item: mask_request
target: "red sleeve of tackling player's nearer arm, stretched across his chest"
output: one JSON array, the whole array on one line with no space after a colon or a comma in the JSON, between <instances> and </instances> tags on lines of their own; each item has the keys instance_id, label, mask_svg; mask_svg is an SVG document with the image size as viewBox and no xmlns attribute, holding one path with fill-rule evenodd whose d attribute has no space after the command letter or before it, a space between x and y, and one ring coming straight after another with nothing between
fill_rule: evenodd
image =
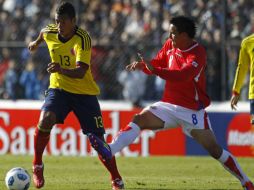
<instances>
[{"instance_id":1,"label":"red sleeve of tackling player's nearer arm, stretched across his chest","mask_svg":"<svg viewBox=\"0 0 254 190\"><path fill-rule=\"evenodd\" d=\"M205 52L203 55L205 55ZM204 69L206 57L200 53L200 56L191 55L186 60L186 65L181 69L168 69L162 67L154 67L153 73L165 80L174 82L183 82L193 80Z\"/></svg>"}]
</instances>

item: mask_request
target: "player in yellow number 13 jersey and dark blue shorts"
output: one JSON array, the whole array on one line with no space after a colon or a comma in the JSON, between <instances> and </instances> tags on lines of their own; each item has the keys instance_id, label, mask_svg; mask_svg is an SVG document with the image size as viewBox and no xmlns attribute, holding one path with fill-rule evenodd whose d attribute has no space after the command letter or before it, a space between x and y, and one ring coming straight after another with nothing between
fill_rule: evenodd
<instances>
[{"instance_id":1,"label":"player in yellow number 13 jersey and dark blue shorts","mask_svg":"<svg viewBox=\"0 0 254 190\"><path fill-rule=\"evenodd\" d=\"M71 111L78 118L84 134L93 134L105 142L105 130L97 100L100 91L90 65L91 38L87 31L76 26L75 9L71 3L63 2L59 5L55 24L44 28L38 38L29 43L29 50L36 50L43 41L46 42L51 57L47 67L50 86L34 134L33 182L36 188L44 186L42 155L49 142L50 132L55 124L63 123ZM115 159L99 158L111 174L112 188L123 189L124 184Z\"/></svg>"}]
</instances>

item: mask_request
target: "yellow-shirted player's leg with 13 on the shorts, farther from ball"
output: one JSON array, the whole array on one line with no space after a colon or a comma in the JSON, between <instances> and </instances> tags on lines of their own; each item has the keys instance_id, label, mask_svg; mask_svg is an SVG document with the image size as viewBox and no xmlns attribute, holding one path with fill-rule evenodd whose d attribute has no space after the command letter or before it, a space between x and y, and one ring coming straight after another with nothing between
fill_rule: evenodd
<instances>
[{"instance_id":1,"label":"yellow-shirted player's leg with 13 on the shorts, farther from ball","mask_svg":"<svg viewBox=\"0 0 254 190\"><path fill-rule=\"evenodd\" d=\"M91 145L96 151L98 151L99 147L96 146L96 142L94 141L102 143L102 146L106 147L107 156L102 157L100 154L98 154L98 156L111 175L112 188L116 190L123 189L124 183L117 169L115 157L112 157L110 148L103 136L105 130L99 102L96 96L77 95L74 97L72 103L74 105L73 111L81 124L82 131L84 134L88 135Z\"/></svg>"}]
</instances>

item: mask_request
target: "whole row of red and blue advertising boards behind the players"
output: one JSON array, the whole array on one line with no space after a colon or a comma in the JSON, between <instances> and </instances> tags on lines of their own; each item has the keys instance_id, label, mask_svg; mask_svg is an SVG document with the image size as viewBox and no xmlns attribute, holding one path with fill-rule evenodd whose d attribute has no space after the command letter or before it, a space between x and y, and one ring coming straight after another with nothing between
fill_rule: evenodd
<instances>
[{"instance_id":1,"label":"whole row of red and blue advertising boards behind the players","mask_svg":"<svg viewBox=\"0 0 254 190\"><path fill-rule=\"evenodd\" d=\"M105 138L111 142L139 110L103 110ZM40 115L39 109L0 109L0 155L33 154L33 135ZM219 144L236 156L254 157L254 129L247 112L208 112ZM82 134L73 113L64 124L55 125L45 154L64 156L95 156L86 136ZM142 131L122 156L207 155L180 127L153 132Z\"/></svg>"}]
</instances>

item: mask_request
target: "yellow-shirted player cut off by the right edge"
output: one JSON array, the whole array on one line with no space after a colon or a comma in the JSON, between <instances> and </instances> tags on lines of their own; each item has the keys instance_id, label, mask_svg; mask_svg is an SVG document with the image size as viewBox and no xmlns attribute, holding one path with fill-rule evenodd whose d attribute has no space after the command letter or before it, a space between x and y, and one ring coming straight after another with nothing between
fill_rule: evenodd
<instances>
[{"instance_id":1,"label":"yellow-shirted player cut off by the right edge","mask_svg":"<svg viewBox=\"0 0 254 190\"><path fill-rule=\"evenodd\" d=\"M254 127L254 34L245 37L241 43L239 60L231 96L231 108L236 109L247 72L250 72L249 100L251 125Z\"/></svg>"}]
</instances>

